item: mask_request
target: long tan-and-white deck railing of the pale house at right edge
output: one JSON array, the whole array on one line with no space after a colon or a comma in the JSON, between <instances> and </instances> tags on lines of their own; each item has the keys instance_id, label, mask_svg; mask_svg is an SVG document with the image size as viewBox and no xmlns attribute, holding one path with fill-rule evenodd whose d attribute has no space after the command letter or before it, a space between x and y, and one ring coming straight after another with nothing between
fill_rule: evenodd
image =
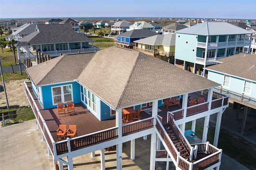
<instances>
[{"instance_id":1,"label":"long tan-and-white deck railing of the pale house at right edge","mask_svg":"<svg viewBox=\"0 0 256 170\"><path fill-rule=\"evenodd\" d=\"M240 94L237 92L233 92L231 90L226 90L222 87L214 87L216 92L220 92L222 94L227 94L230 96L230 100L243 104L244 106L252 107L256 109L256 98L252 98L250 96L246 96L244 94Z\"/></svg>"}]
</instances>

